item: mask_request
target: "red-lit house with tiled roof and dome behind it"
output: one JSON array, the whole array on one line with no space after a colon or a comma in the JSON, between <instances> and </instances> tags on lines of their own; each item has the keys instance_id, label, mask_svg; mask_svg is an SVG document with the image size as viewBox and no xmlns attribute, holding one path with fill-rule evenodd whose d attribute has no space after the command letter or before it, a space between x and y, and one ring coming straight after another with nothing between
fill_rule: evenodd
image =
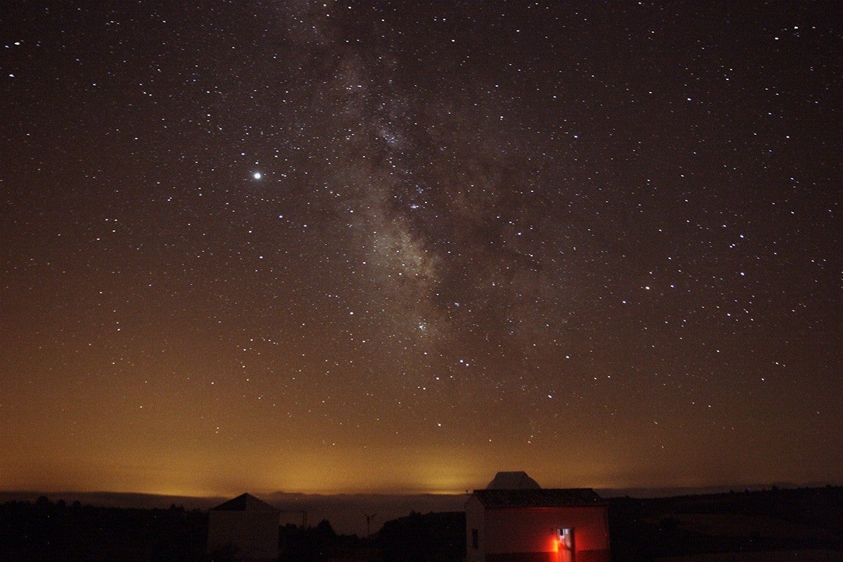
<instances>
[{"instance_id":1,"label":"red-lit house with tiled roof and dome behind it","mask_svg":"<svg viewBox=\"0 0 843 562\"><path fill-rule=\"evenodd\" d=\"M543 490L498 473L465 504L466 562L609 562L609 504L590 488Z\"/></svg>"}]
</instances>

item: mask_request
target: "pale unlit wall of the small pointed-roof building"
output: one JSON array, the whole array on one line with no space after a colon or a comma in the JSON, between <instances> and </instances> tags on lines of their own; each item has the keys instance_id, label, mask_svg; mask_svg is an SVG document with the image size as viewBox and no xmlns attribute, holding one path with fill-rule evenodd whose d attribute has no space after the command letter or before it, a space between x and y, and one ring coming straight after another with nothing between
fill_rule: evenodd
<instances>
[{"instance_id":1,"label":"pale unlit wall of the small pointed-roof building","mask_svg":"<svg viewBox=\"0 0 843 562\"><path fill-rule=\"evenodd\" d=\"M266 511L210 511L207 552L234 545L237 559L278 558L278 514Z\"/></svg>"}]
</instances>

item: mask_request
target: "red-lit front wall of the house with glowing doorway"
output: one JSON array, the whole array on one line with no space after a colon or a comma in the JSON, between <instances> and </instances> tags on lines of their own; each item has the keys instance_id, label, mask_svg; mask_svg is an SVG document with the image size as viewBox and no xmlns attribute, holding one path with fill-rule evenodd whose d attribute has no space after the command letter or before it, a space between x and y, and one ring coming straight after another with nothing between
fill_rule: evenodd
<instances>
[{"instance_id":1,"label":"red-lit front wall of the house with glowing doorway","mask_svg":"<svg viewBox=\"0 0 843 562\"><path fill-rule=\"evenodd\" d=\"M609 528L605 506L488 509L485 512L480 549L486 556L478 560L561 562L564 556L558 553L555 532L562 527L574 528L575 562L609 560ZM470 540L470 536L468 538ZM471 562L474 559L468 560Z\"/></svg>"}]
</instances>

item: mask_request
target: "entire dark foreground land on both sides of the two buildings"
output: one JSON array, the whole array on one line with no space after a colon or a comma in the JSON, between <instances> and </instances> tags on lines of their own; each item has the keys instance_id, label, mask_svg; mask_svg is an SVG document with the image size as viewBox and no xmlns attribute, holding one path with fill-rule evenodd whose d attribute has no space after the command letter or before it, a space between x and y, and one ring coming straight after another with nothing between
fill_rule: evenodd
<instances>
[{"instance_id":1,"label":"entire dark foreground land on both sides of the two buildings","mask_svg":"<svg viewBox=\"0 0 843 562\"><path fill-rule=\"evenodd\" d=\"M843 560L843 488L609 500L612 559L684 562ZM205 554L207 511L67 505L46 497L0 505L0 560L224 560ZM411 513L371 538L323 521L280 528L282 562L457 561L462 512Z\"/></svg>"}]
</instances>

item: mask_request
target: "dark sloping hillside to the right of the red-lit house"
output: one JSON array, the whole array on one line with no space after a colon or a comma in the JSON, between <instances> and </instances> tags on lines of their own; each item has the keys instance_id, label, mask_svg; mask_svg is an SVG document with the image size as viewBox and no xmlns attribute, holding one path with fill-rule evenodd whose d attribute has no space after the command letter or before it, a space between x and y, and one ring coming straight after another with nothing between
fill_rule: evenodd
<instances>
[{"instance_id":1,"label":"dark sloping hillside to the right of the red-lit house","mask_svg":"<svg viewBox=\"0 0 843 562\"><path fill-rule=\"evenodd\" d=\"M841 559L843 488L612 498L609 534L616 562L788 551Z\"/></svg>"}]
</instances>

